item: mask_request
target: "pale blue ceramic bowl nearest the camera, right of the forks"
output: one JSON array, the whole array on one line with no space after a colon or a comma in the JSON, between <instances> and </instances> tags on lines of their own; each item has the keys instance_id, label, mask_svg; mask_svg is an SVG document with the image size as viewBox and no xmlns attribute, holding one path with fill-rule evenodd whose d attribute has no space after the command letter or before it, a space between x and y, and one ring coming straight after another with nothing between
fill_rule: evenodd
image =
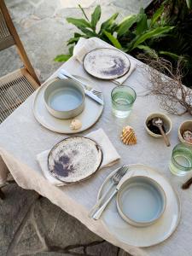
<instances>
[{"instance_id":1,"label":"pale blue ceramic bowl nearest the camera, right of the forks","mask_svg":"<svg viewBox=\"0 0 192 256\"><path fill-rule=\"evenodd\" d=\"M117 208L127 223L137 227L148 226L165 212L166 193L150 177L130 177L119 188Z\"/></svg>"}]
</instances>

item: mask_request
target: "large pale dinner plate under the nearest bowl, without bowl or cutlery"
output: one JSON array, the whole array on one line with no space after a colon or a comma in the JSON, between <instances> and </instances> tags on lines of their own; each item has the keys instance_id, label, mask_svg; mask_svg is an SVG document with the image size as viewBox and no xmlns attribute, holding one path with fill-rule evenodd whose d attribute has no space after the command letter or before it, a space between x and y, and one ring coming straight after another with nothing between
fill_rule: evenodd
<instances>
[{"instance_id":1,"label":"large pale dinner plate under the nearest bowl, without bowl or cutlery","mask_svg":"<svg viewBox=\"0 0 192 256\"><path fill-rule=\"evenodd\" d=\"M102 184L98 199L108 189L108 185L111 183L110 177L113 176L114 172L110 173ZM166 210L161 218L147 227L132 226L119 216L116 199L113 198L102 213L101 219L106 229L119 241L135 247L149 247L165 241L176 230L181 215L181 206L177 193L166 177L163 177L149 166L129 165L124 179L139 175L153 178L164 189L166 193Z\"/></svg>"}]
</instances>

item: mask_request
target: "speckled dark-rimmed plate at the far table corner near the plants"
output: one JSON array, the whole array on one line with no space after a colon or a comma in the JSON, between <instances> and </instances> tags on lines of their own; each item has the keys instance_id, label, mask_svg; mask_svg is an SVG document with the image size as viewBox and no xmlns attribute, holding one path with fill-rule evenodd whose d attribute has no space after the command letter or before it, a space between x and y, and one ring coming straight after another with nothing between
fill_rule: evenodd
<instances>
[{"instance_id":1,"label":"speckled dark-rimmed plate at the far table corner near the plants","mask_svg":"<svg viewBox=\"0 0 192 256\"><path fill-rule=\"evenodd\" d=\"M119 79L130 66L129 58L118 49L94 49L84 57L84 69L97 79Z\"/></svg>"}]
</instances>

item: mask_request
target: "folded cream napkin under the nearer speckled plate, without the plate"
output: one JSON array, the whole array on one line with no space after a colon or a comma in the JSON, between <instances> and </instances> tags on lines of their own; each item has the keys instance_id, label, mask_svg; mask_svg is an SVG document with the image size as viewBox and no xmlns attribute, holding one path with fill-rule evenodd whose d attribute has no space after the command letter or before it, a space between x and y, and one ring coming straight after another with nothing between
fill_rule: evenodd
<instances>
[{"instance_id":1,"label":"folded cream napkin under the nearer speckled plate, without the plate","mask_svg":"<svg viewBox=\"0 0 192 256\"><path fill-rule=\"evenodd\" d=\"M117 160L119 160L119 154L117 153L108 136L102 129L92 131L87 134L86 137L93 139L102 148L103 159L100 169L103 167L112 166ZM46 177L50 183L54 184L55 186L62 186L64 184L55 177L53 177L49 172L47 165L49 151L50 149L37 155L38 163L42 171L44 172L44 177Z\"/></svg>"}]
</instances>

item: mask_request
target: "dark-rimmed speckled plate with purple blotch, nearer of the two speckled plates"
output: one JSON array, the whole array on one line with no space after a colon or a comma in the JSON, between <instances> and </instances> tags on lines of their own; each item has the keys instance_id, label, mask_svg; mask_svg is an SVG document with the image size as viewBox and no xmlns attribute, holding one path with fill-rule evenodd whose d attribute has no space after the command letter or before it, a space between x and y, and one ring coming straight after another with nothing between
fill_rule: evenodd
<instances>
[{"instance_id":1,"label":"dark-rimmed speckled plate with purple blotch, nearer of the two speckled plates","mask_svg":"<svg viewBox=\"0 0 192 256\"><path fill-rule=\"evenodd\" d=\"M102 149L90 138L68 137L48 156L49 172L63 183L77 183L95 173L102 164Z\"/></svg>"}]
</instances>

